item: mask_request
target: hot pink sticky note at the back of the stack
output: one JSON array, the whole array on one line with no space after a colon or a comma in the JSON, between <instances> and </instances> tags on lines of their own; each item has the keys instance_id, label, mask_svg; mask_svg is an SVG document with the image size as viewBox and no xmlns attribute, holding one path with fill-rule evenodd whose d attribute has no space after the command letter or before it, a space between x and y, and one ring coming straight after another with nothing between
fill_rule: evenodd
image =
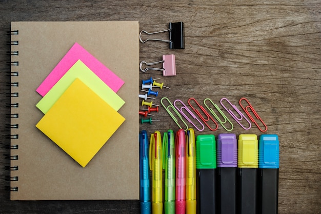
<instances>
[{"instance_id":1,"label":"hot pink sticky note at the back of the stack","mask_svg":"<svg viewBox=\"0 0 321 214\"><path fill-rule=\"evenodd\" d=\"M61 77L77 62L81 60L90 70L92 70L104 83L106 83L114 92L122 87L124 81L113 73L104 64L99 62L85 48L75 43L66 53L63 59L49 73L44 82L36 91L45 96L47 92L61 79Z\"/></svg>"}]
</instances>

